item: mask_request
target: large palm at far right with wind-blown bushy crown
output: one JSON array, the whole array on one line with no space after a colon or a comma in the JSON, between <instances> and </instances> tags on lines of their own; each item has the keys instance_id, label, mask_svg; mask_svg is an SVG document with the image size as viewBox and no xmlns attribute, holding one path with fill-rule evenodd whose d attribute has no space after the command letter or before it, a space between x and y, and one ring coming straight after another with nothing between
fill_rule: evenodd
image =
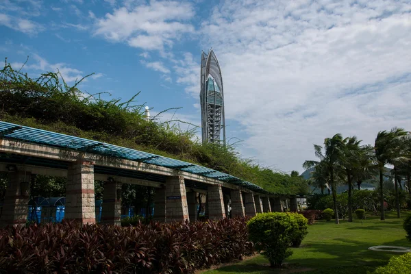
<instances>
[{"instance_id":1,"label":"large palm at far right with wind-blown bushy crown","mask_svg":"<svg viewBox=\"0 0 411 274\"><path fill-rule=\"evenodd\" d=\"M377 160L377 166L379 169L379 206L381 207L381 220L385 220L384 216L384 191L383 191L383 176L384 166L386 164L399 164L405 162L407 158L404 158L401 154L401 142L399 140L408 136L408 132L401 128L393 128L390 132L386 130L378 132L377 138L375 138L375 159ZM397 180L395 180L395 186L397 186ZM398 199L397 199L398 201ZM398 206L397 206L398 210ZM399 212L397 213L397 215Z\"/></svg>"}]
</instances>

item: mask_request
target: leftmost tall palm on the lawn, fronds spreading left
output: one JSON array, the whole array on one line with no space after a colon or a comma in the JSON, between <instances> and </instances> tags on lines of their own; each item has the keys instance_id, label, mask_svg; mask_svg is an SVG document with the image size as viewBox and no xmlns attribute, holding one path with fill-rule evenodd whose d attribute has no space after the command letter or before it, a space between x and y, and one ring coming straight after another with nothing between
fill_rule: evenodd
<instances>
[{"instance_id":1,"label":"leftmost tall palm on the lawn, fronds spreading left","mask_svg":"<svg viewBox=\"0 0 411 274\"><path fill-rule=\"evenodd\" d=\"M323 147L320 145L314 145L314 153L316 157L319 158L320 162L323 162L325 169L329 173L329 184L331 184L332 188L332 201L334 203L334 213L336 214L336 224L339 224L336 177L339 173L340 160L343 158L343 136L338 133L332 138L325 138L324 153ZM320 162L307 160L303 163L303 168L310 169L313 166L320 164Z\"/></svg>"}]
</instances>

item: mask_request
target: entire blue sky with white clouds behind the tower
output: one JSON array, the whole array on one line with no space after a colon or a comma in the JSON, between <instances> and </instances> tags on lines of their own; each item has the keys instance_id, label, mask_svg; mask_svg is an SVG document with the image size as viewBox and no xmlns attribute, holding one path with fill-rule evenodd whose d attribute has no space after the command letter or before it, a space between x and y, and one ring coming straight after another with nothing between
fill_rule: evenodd
<instances>
[{"instance_id":1,"label":"entire blue sky with white clouds behind the tower","mask_svg":"<svg viewBox=\"0 0 411 274\"><path fill-rule=\"evenodd\" d=\"M372 143L410 129L410 13L388 0L3 0L0 53L70 84L95 73L82 90L141 91L152 113L183 107L175 117L199 125L199 59L213 47L227 136L245 158L302 171L337 132Z\"/></svg>"}]
</instances>

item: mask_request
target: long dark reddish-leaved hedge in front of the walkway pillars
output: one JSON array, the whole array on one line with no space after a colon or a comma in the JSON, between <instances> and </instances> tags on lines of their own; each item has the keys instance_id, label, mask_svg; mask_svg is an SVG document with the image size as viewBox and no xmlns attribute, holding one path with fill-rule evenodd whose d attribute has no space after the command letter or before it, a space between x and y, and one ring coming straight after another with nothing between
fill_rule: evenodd
<instances>
[{"instance_id":1,"label":"long dark reddish-leaved hedge in front of the walkway pillars","mask_svg":"<svg viewBox=\"0 0 411 274\"><path fill-rule=\"evenodd\" d=\"M253 253L247 219L0 229L0 273L194 273Z\"/></svg>"}]
</instances>

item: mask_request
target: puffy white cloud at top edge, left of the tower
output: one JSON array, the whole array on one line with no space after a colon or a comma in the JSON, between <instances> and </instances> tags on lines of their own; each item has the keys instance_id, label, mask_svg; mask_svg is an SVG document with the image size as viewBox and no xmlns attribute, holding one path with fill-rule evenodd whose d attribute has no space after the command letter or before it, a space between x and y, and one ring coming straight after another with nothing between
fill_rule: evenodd
<instances>
[{"instance_id":1,"label":"puffy white cloud at top edge, left of the tower","mask_svg":"<svg viewBox=\"0 0 411 274\"><path fill-rule=\"evenodd\" d=\"M113 42L127 42L131 47L162 50L164 46L171 47L182 34L194 32L192 25L184 23L192 16L192 5L178 1L125 5L96 18L95 35Z\"/></svg>"}]
</instances>

